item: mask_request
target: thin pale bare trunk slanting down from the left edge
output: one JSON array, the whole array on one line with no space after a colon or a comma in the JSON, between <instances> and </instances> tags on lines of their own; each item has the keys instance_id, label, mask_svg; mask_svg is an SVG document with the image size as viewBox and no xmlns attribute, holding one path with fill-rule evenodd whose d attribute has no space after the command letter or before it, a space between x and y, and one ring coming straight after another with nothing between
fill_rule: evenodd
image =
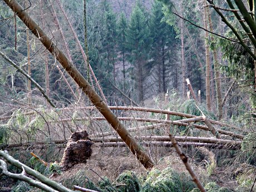
<instances>
[{"instance_id":1,"label":"thin pale bare trunk slanting down from the left edge","mask_svg":"<svg viewBox=\"0 0 256 192\"><path fill-rule=\"evenodd\" d=\"M53 102L50 100L50 98L46 95L45 90L43 90L43 88L31 76L29 76L25 71L23 71L21 67L19 67L16 63L14 63L12 60L10 60L6 55L4 55L3 52L0 51L0 55L6 61L8 61L13 67L15 67L18 70L18 72L20 72L20 73L22 73L22 75L26 76L28 78L28 80L30 80L38 88L38 90L40 90L40 92L43 94L43 97L45 97L45 99L49 102L49 104L52 107L56 108L56 106L53 104Z\"/></svg>"}]
</instances>

